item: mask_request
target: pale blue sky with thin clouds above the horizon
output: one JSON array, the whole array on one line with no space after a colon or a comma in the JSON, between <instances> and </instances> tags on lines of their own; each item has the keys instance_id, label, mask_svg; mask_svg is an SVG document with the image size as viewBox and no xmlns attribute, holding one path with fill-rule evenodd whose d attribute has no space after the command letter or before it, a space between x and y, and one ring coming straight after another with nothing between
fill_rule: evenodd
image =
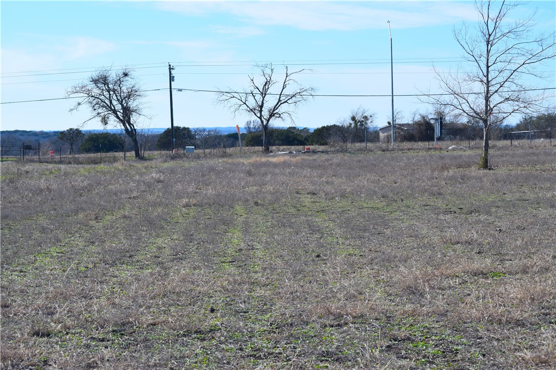
<instances>
[{"instance_id":1,"label":"pale blue sky with thin clouds above the horizon","mask_svg":"<svg viewBox=\"0 0 556 370\"><path fill-rule=\"evenodd\" d=\"M554 1L533 1L515 16L538 9L539 32L556 28ZM304 86L322 95L297 110L293 125L334 124L352 109L374 113L381 126L391 114L390 21L394 93L437 89L432 65L447 70L461 62L452 29L477 19L470 1L274 1L121 2L2 1L2 130L64 130L89 117L69 113L75 100L9 103L65 97L66 89L96 69L127 65L147 92L144 128L170 126L168 63L175 89L243 90L257 63L282 64ZM554 72L554 60L543 67ZM556 85L555 74L539 82ZM282 75L278 75L282 77ZM232 115L207 92L173 92L174 124L189 127L242 126L249 115ZM9 103L9 104L7 104ZM405 120L432 109L415 97L396 97ZM513 123L519 116L513 118ZM277 126L292 123L276 122ZM91 121L84 129L98 129Z\"/></svg>"}]
</instances>

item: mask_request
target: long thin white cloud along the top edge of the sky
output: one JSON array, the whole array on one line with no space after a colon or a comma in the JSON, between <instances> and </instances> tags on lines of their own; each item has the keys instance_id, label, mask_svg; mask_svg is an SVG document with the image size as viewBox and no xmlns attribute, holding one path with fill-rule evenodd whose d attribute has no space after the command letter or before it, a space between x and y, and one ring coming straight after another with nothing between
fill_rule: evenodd
<instances>
[{"instance_id":1,"label":"long thin white cloud along the top edge of the sky","mask_svg":"<svg viewBox=\"0 0 556 370\"><path fill-rule=\"evenodd\" d=\"M259 26L290 26L310 31L353 31L384 28L435 26L473 20L472 3L461 2L163 2L158 7L187 16L233 14Z\"/></svg>"}]
</instances>

